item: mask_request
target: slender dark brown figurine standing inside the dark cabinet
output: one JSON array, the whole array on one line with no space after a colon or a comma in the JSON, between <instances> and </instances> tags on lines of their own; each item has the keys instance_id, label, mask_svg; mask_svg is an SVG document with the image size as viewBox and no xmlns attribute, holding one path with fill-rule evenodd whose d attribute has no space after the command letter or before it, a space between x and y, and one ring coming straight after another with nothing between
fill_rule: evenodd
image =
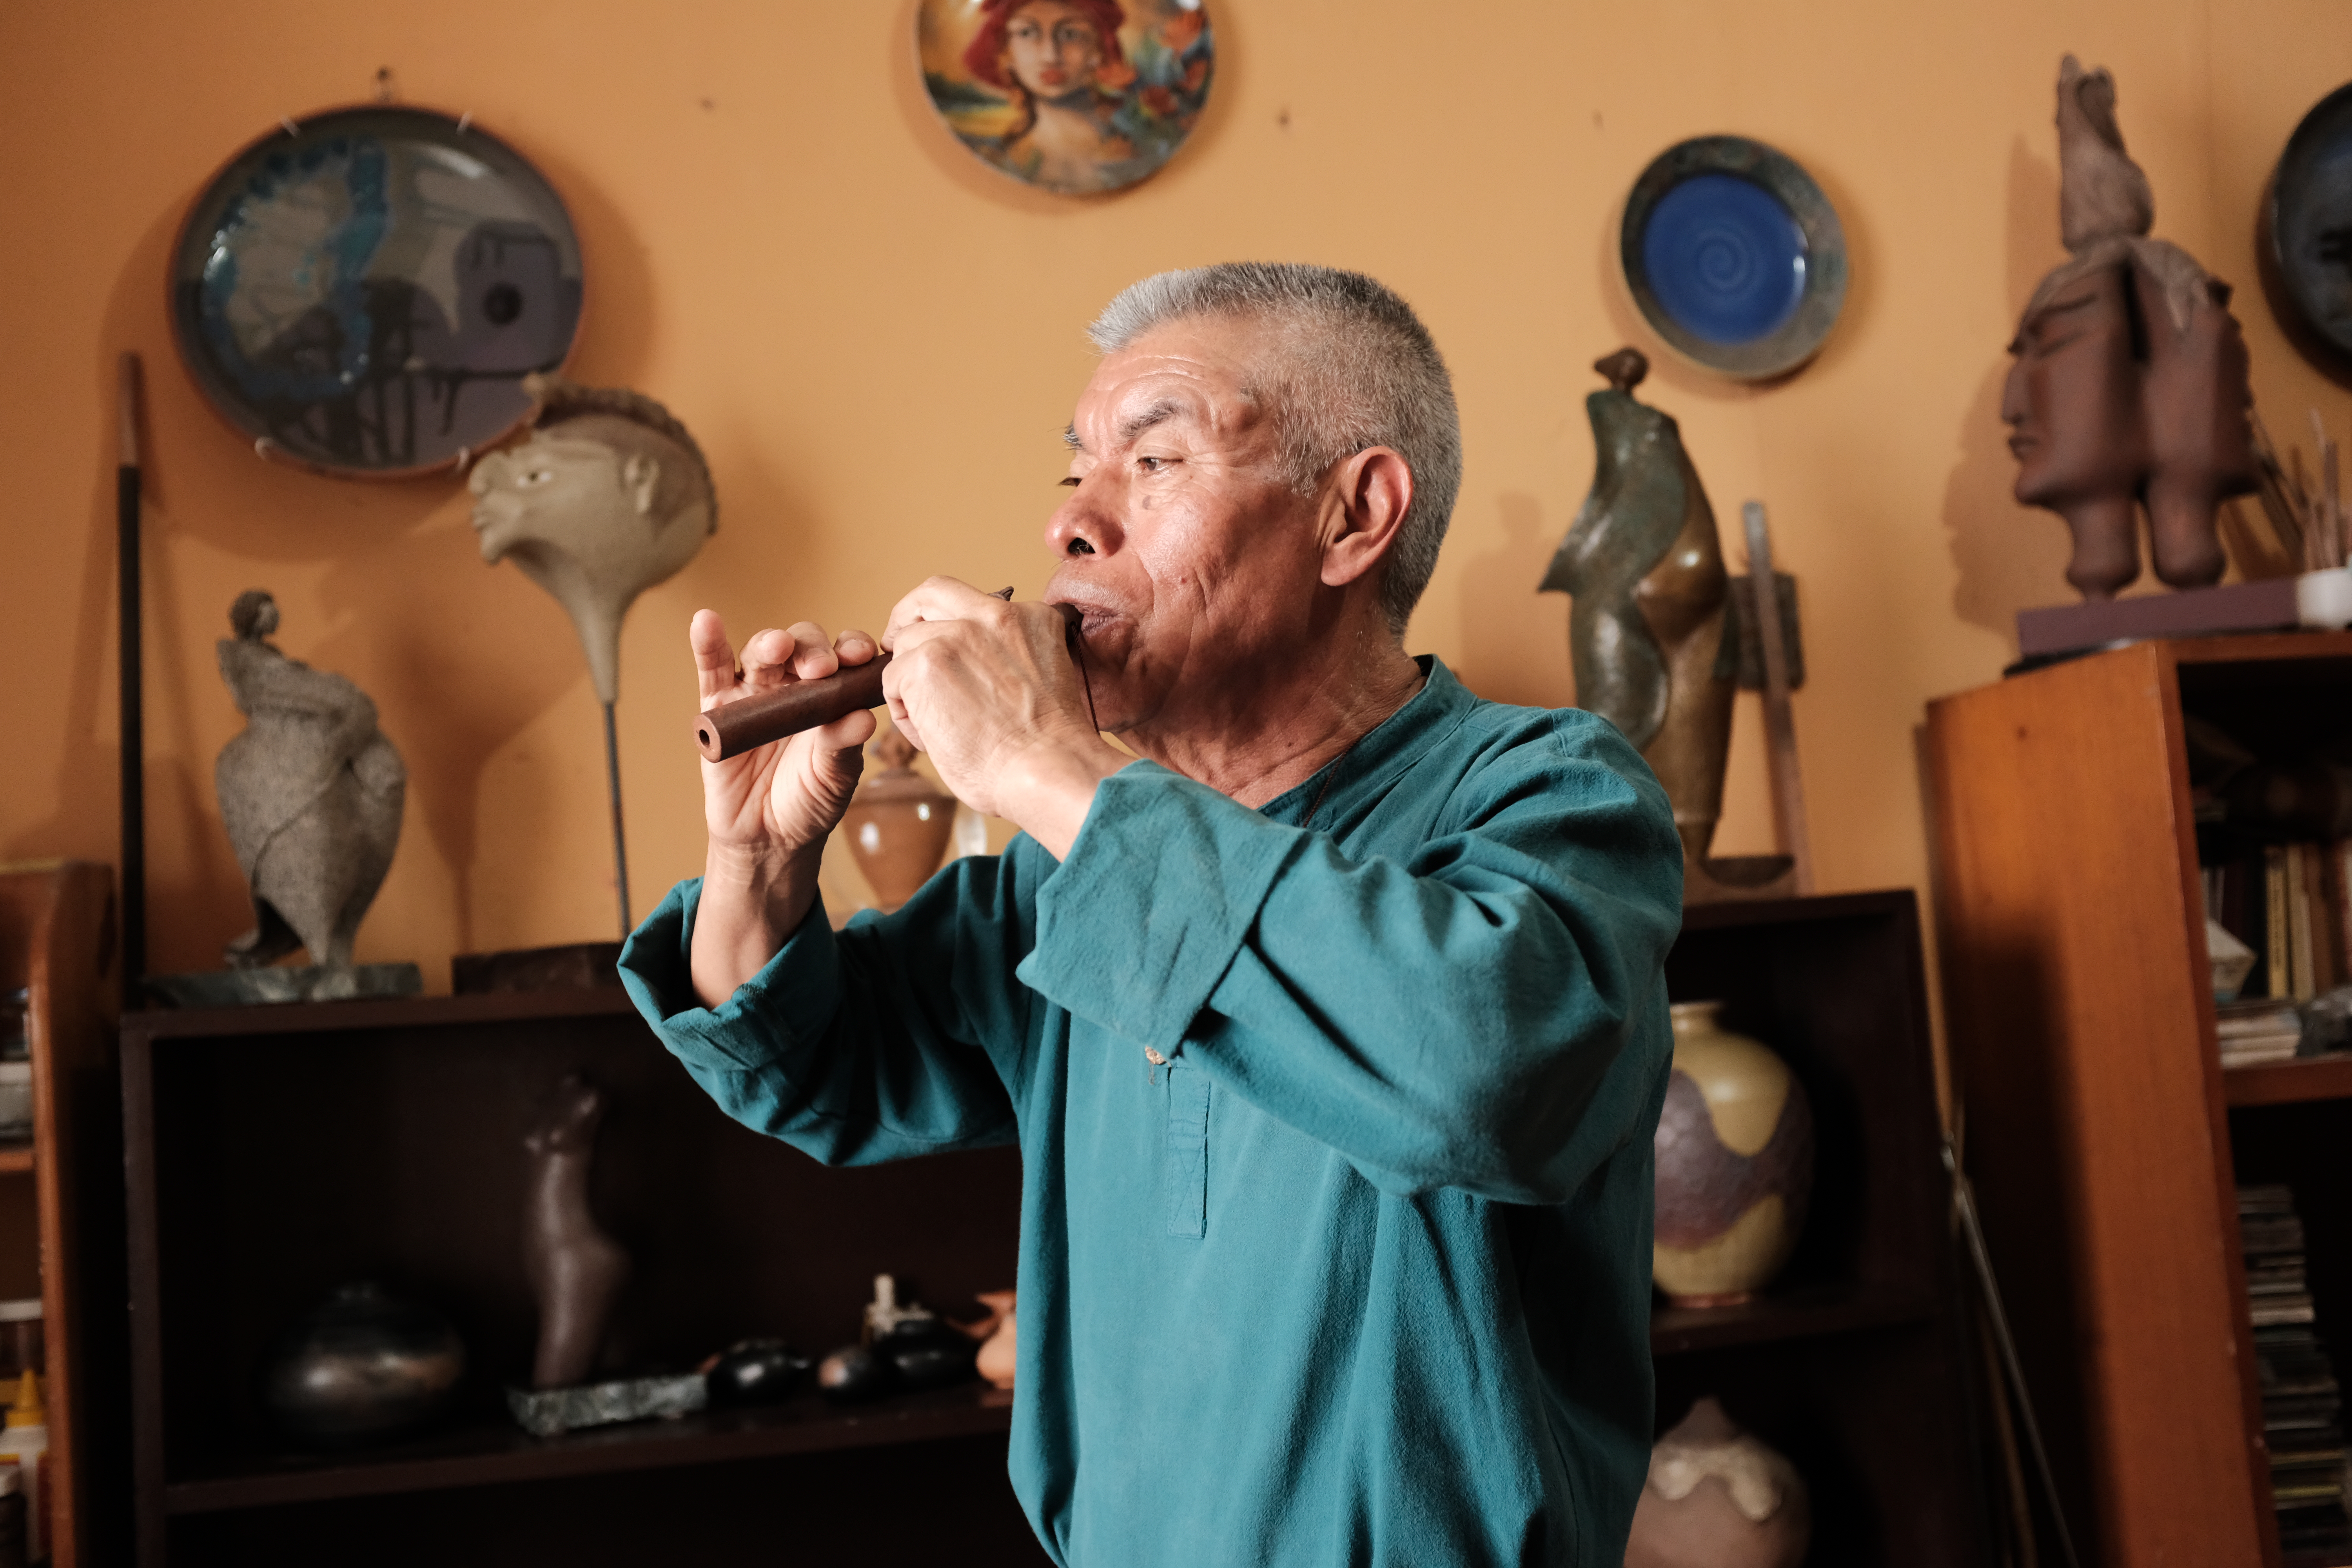
<instances>
[{"instance_id":1,"label":"slender dark brown figurine standing inside the dark cabinet","mask_svg":"<svg viewBox=\"0 0 2352 1568\"><path fill-rule=\"evenodd\" d=\"M597 1229L588 1211L588 1166L595 1157L604 1095L579 1074L555 1086L546 1119L524 1135L532 1152L529 1197L522 1211L522 1269L539 1300L539 1354L532 1387L586 1382L604 1349L612 1309L628 1284L628 1253Z\"/></svg>"}]
</instances>

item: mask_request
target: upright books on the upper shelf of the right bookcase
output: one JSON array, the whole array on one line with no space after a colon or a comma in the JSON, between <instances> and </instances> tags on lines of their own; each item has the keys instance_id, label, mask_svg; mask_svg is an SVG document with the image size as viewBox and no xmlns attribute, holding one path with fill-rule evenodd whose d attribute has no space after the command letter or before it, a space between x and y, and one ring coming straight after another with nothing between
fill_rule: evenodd
<instances>
[{"instance_id":1,"label":"upright books on the upper shelf of the right bookcase","mask_svg":"<svg viewBox=\"0 0 2352 1568\"><path fill-rule=\"evenodd\" d=\"M2310 1001L2352 980L2352 839L2251 846L2201 870L2206 917L2256 952L2244 997Z\"/></svg>"}]
</instances>

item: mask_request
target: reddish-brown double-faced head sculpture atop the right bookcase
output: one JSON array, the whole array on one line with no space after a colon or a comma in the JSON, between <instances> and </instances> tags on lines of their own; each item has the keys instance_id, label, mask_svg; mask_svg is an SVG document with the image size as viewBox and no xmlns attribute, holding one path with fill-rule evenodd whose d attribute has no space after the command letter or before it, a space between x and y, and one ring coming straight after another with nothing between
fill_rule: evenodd
<instances>
[{"instance_id":1,"label":"reddish-brown double-faced head sculpture atop the right bookcase","mask_svg":"<svg viewBox=\"0 0 2352 1568\"><path fill-rule=\"evenodd\" d=\"M2016 496L2065 517L2067 581L2112 599L2140 576L2220 578L2216 510L2256 489L2246 341L2230 284L2150 240L2154 195L2124 153L2114 78L2058 66L2058 219L2072 259L2025 306L2002 390Z\"/></svg>"}]
</instances>

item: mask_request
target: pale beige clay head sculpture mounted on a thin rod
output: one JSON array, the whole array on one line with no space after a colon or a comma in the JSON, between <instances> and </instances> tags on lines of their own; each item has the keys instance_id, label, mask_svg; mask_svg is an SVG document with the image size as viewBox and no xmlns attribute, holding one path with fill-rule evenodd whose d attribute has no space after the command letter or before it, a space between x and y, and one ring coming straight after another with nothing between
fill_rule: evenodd
<instances>
[{"instance_id":1,"label":"pale beige clay head sculpture mounted on a thin rod","mask_svg":"<svg viewBox=\"0 0 2352 1568\"><path fill-rule=\"evenodd\" d=\"M529 440L473 465L482 559L515 557L572 616L600 701L621 689L621 616L717 529L710 465L652 397L527 376Z\"/></svg>"}]
</instances>

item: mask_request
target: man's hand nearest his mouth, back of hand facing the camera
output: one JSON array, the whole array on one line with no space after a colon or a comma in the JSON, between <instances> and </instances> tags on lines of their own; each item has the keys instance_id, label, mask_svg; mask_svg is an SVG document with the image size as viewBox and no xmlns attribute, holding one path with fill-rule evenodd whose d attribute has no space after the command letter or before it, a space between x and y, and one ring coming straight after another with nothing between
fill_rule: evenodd
<instances>
[{"instance_id":1,"label":"man's hand nearest his mouth, back of hand facing the camera","mask_svg":"<svg viewBox=\"0 0 2352 1568\"><path fill-rule=\"evenodd\" d=\"M1087 717L1087 686L1051 604L1007 604L931 578L889 616L891 719L974 811L1070 853L1094 785L1134 762Z\"/></svg>"}]
</instances>

